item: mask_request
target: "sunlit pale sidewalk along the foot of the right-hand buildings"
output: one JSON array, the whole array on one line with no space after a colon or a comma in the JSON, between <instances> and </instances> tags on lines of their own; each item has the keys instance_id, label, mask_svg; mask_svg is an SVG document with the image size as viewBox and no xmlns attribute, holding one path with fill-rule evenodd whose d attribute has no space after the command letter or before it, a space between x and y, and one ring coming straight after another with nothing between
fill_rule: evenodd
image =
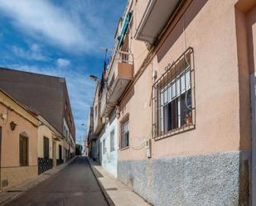
<instances>
[{"instance_id":1,"label":"sunlit pale sidewalk along the foot of the right-hand buildings","mask_svg":"<svg viewBox=\"0 0 256 206\"><path fill-rule=\"evenodd\" d=\"M102 166L95 161L87 158L94 175L96 176L101 189L103 190L106 199L111 206L150 206L138 194L135 194L132 189L118 181L114 176L109 175Z\"/></svg>"}]
</instances>

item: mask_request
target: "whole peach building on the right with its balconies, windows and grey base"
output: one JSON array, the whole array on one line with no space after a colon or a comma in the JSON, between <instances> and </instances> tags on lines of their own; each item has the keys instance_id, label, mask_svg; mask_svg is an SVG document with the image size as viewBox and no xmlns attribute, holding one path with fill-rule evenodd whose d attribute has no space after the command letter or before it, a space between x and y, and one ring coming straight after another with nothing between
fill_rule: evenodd
<instances>
[{"instance_id":1,"label":"whole peach building on the right with its balconies, windows and grey base","mask_svg":"<svg viewBox=\"0 0 256 206\"><path fill-rule=\"evenodd\" d=\"M119 180L156 206L256 205L255 42L254 0L128 1L94 98Z\"/></svg>"}]
</instances>

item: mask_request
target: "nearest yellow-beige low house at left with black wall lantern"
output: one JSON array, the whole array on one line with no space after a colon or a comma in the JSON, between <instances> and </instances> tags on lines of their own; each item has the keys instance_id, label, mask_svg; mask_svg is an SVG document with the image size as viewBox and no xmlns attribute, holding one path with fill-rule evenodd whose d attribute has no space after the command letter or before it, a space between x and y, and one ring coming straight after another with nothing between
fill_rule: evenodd
<instances>
[{"instance_id":1,"label":"nearest yellow-beige low house at left with black wall lantern","mask_svg":"<svg viewBox=\"0 0 256 206\"><path fill-rule=\"evenodd\" d=\"M39 120L0 90L0 189L37 175Z\"/></svg>"}]
</instances>

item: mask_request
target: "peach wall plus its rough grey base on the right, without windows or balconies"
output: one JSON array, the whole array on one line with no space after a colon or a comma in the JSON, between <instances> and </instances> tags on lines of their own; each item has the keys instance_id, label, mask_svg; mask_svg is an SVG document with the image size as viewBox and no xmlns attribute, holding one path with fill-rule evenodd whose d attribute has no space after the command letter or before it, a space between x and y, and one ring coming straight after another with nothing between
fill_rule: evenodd
<instances>
[{"instance_id":1,"label":"peach wall plus its rough grey base on the right, without windows or balconies","mask_svg":"<svg viewBox=\"0 0 256 206\"><path fill-rule=\"evenodd\" d=\"M239 91L249 76L241 79L238 66L236 2L191 1L121 100L118 122L129 116L130 146L118 151L118 178L154 205L248 204L251 137L243 111L249 98L241 103ZM194 50L196 128L152 140L147 160L145 146L134 148L152 137L152 71L158 79L188 46ZM141 53L135 43L131 49ZM134 71L140 66L135 62ZM244 90L249 93L249 84Z\"/></svg>"}]
</instances>

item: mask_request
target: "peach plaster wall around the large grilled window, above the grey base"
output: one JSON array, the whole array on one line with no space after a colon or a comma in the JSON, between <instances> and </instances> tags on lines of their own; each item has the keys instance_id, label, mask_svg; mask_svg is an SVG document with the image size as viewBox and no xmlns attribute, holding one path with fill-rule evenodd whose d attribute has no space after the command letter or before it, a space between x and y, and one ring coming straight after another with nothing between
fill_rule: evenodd
<instances>
[{"instance_id":1,"label":"peach plaster wall around the large grilled window, above the grey base","mask_svg":"<svg viewBox=\"0 0 256 206\"><path fill-rule=\"evenodd\" d=\"M152 133L152 70L157 70L159 78L164 68L188 46L194 49L196 129L153 140L152 158L239 150L239 68L235 23L232 0L191 2L158 48L157 55L120 103L118 121L128 114L131 146L118 151L118 160L146 158L145 147L140 150L133 148L141 146ZM140 52L133 48L134 55Z\"/></svg>"}]
</instances>

